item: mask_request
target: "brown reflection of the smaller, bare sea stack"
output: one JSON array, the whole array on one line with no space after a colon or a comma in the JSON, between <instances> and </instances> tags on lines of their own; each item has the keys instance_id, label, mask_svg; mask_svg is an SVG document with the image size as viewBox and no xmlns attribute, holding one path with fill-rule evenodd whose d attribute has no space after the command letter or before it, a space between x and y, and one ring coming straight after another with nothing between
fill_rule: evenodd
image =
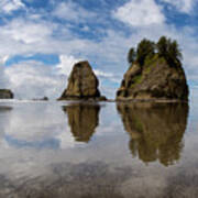
<instances>
[{"instance_id":1,"label":"brown reflection of the smaller, bare sea stack","mask_svg":"<svg viewBox=\"0 0 198 198\"><path fill-rule=\"evenodd\" d=\"M89 142L98 125L100 106L74 103L63 107L76 141Z\"/></svg>"}]
</instances>

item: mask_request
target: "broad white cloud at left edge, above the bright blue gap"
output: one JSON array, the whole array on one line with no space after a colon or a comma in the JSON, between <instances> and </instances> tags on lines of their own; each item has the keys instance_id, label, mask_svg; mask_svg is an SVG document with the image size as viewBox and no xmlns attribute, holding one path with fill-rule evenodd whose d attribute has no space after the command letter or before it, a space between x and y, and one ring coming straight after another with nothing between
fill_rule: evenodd
<instances>
[{"instance_id":1,"label":"broad white cloud at left edge, above the bright blue gap","mask_svg":"<svg viewBox=\"0 0 198 198\"><path fill-rule=\"evenodd\" d=\"M44 21L33 22L18 18L4 25L0 31L1 56L34 54L50 52L54 25ZM47 50L48 48L48 50Z\"/></svg>"}]
</instances>

